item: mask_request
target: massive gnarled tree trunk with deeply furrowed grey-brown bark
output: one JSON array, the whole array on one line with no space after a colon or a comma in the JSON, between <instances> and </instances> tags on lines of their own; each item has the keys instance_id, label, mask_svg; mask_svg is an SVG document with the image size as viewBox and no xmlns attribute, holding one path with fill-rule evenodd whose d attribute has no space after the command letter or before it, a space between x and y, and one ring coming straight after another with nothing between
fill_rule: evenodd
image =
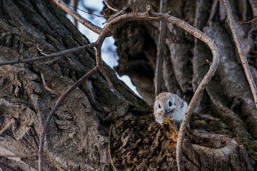
<instances>
[{"instance_id":1,"label":"massive gnarled tree trunk with deeply furrowed grey-brown bark","mask_svg":"<svg viewBox=\"0 0 257 171\"><path fill-rule=\"evenodd\" d=\"M145 11L146 4L141 1L117 2L113 3L120 9L126 6ZM243 18L247 20L254 4L242 2L245 8L239 8L237 3L231 6L238 11L236 14L247 16ZM158 11L158 2L148 4ZM236 57L222 4L177 1L168 10L213 37L222 57L218 72L199 103L202 112L194 113L190 122L192 131L190 128L187 131L188 139L183 146L186 169L256 169L257 143L253 141L257 138L256 109ZM119 74L131 77L150 105L155 99L158 28L157 22L135 21L115 31L120 57L116 69ZM257 72L256 61L250 56L254 55L254 26L238 25L238 29L251 68ZM203 42L194 40L182 29L168 24L167 30L163 91L178 93L189 102L209 67L205 58L211 60L212 56ZM89 43L51 0L0 1L0 40L0 62L39 56L37 44L50 54ZM41 73L50 88L63 93L95 63L94 49L88 49L54 59L0 67L0 153L38 153L43 124L58 99L44 89ZM44 143L44 169L112 170L108 136L113 123L111 156L118 170L177 170L176 147L170 145L154 121L152 108L120 81L109 66L105 64L104 68L113 88L97 73L74 90L55 113ZM206 115L208 112L218 118ZM242 142L246 147L240 145ZM0 161L23 170L38 170L36 158L0 157Z\"/></svg>"}]
</instances>

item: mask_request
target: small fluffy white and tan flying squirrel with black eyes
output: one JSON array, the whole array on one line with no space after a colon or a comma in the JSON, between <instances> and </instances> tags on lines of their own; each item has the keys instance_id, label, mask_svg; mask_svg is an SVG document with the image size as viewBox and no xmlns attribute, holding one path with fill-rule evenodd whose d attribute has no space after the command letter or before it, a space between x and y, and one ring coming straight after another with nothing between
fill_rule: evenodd
<instances>
[{"instance_id":1,"label":"small fluffy white and tan flying squirrel with black eyes","mask_svg":"<svg viewBox=\"0 0 257 171\"><path fill-rule=\"evenodd\" d=\"M187 107L187 102L182 100L176 94L171 94L169 92L160 93L156 96L156 100L154 102L155 120L159 124L162 124L164 115L166 115L169 119L173 118L175 120L179 129Z\"/></svg>"}]
</instances>

